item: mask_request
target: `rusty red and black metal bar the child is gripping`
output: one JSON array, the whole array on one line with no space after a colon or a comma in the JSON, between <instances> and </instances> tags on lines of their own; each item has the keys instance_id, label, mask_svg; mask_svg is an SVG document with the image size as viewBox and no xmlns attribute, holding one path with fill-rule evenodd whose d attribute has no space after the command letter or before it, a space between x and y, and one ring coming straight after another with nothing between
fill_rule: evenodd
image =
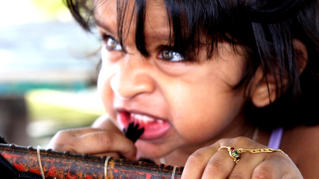
<instances>
[{"instance_id":1,"label":"rusty red and black metal bar the child is gripping","mask_svg":"<svg viewBox=\"0 0 319 179\"><path fill-rule=\"evenodd\" d=\"M0 154L21 172L38 175L40 166L37 150L14 144L0 144ZM40 149L41 163L46 177L61 179L105 179L104 164L106 156L97 157L87 154L59 152ZM173 166L148 164L143 161L129 161L110 158L107 179L171 179ZM183 167L177 167L174 179L181 178Z\"/></svg>"}]
</instances>

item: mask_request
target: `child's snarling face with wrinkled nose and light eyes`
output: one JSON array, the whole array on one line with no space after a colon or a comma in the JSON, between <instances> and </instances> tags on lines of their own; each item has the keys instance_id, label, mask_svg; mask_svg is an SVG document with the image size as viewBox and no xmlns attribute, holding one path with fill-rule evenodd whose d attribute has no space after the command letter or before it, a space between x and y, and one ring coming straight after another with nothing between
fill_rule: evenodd
<instances>
[{"instance_id":1,"label":"child's snarling face with wrinkled nose and light eyes","mask_svg":"<svg viewBox=\"0 0 319 179\"><path fill-rule=\"evenodd\" d=\"M136 142L138 157L159 158L175 149L194 152L241 129L245 101L243 92L232 86L241 80L245 60L229 44L220 43L219 55L211 60L201 52L199 63L184 62L178 52L165 53L169 26L164 3L158 1L147 1L149 57L135 46L134 18L124 44L128 53L112 41L117 29L115 0L99 4L95 19L101 35L111 36L102 47L98 90L121 129L133 121L145 128Z\"/></svg>"}]
</instances>

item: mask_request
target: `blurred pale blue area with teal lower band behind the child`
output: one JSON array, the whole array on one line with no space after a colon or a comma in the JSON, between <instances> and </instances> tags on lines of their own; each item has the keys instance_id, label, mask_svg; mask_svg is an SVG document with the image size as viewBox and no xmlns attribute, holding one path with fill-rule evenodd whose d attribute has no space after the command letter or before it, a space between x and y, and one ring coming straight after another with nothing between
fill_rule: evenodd
<instances>
[{"instance_id":1,"label":"blurred pale blue area with teal lower band behind the child","mask_svg":"<svg viewBox=\"0 0 319 179\"><path fill-rule=\"evenodd\" d=\"M0 27L0 95L33 88L83 89L96 78L100 42L75 22Z\"/></svg>"}]
</instances>

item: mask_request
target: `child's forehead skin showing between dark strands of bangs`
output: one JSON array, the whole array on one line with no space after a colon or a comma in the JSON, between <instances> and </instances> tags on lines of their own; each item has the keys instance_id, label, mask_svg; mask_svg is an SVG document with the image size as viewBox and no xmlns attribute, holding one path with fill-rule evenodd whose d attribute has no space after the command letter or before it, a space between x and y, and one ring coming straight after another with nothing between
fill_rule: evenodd
<instances>
[{"instance_id":1,"label":"child's forehead skin showing between dark strands of bangs","mask_svg":"<svg viewBox=\"0 0 319 179\"><path fill-rule=\"evenodd\" d=\"M138 7L133 7L134 0L130 0L128 3L127 9L122 7L125 12L122 12L120 21L123 21L124 31L130 29L128 34L135 34ZM104 28L113 35L117 34L118 24L120 23L117 15L117 0L95 0L95 6L94 19L97 26ZM167 41L170 32L169 28L164 2L159 0L147 1L144 22L145 37L151 41L155 39Z\"/></svg>"}]
</instances>

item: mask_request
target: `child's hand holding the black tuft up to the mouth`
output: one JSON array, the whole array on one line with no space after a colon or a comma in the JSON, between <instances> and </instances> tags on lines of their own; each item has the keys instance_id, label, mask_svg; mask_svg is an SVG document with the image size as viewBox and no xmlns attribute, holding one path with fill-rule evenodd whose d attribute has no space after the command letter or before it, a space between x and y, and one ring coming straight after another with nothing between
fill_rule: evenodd
<instances>
[{"instance_id":1,"label":"child's hand holding the black tuft up to the mouth","mask_svg":"<svg viewBox=\"0 0 319 179\"><path fill-rule=\"evenodd\" d=\"M96 128L96 127L100 128ZM47 148L72 153L88 153L97 156L120 155L130 160L136 160L136 147L107 118L99 118L93 124L95 128L80 128L59 131L49 142Z\"/></svg>"}]
</instances>

